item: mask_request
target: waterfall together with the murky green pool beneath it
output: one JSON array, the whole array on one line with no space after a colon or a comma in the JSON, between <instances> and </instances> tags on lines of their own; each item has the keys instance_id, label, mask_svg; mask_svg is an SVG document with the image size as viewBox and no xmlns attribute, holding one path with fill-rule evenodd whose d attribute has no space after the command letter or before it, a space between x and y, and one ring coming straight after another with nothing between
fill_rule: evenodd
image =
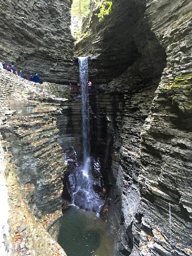
<instances>
[{"instance_id":1,"label":"waterfall together with the murky green pool beneath it","mask_svg":"<svg viewBox=\"0 0 192 256\"><path fill-rule=\"evenodd\" d=\"M79 57L82 115L82 162L69 175L72 206L63 211L58 242L68 256L111 256L113 242L106 223L99 218L104 199L94 190L100 173L98 160L90 156L88 58ZM93 167L94 166L94 167Z\"/></svg>"}]
</instances>

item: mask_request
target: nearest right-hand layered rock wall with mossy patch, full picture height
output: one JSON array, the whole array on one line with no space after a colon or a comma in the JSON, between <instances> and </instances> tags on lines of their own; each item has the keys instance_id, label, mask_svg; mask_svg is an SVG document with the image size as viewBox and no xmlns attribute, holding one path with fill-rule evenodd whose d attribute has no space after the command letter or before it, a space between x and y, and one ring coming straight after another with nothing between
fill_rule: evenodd
<instances>
[{"instance_id":1,"label":"nearest right-hand layered rock wall with mossy patch, full picture height","mask_svg":"<svg viewBox=\"0 0 192 256\"><path fill-rule=\"evenodd\" d=\"M189 1L148 1L165 68L141 134L134 255L191 255L192 62Z\"/></svg>"}]
</instances>

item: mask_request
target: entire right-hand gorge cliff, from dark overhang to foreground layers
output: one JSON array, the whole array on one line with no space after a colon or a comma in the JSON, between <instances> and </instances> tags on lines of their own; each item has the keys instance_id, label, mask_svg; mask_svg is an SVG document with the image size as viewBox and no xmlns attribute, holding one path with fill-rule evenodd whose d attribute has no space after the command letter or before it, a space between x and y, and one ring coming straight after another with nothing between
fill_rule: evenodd
<instances>
[{"instance_id":1,"label":"entire right-hand gorge cliff, from dark overhang to foreground layers","mask_svg":"<svg viewBox=\"0 0 192 256\"><path fill-rule=\"evenodd\" d=\"M76 45L77 54L98 56L93 81L111 73L103 88L124 93L112 152L114 255L192 253L191 9L188 1L114 1L101 23L93 11Z\"/></svg>"}]
</instances>

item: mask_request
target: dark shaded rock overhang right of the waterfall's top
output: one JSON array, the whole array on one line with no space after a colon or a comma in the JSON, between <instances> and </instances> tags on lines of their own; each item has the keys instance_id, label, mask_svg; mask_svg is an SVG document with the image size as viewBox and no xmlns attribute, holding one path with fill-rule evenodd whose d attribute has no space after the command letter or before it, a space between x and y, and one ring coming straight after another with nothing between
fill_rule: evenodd
<instances>
[{"instance_id":1,"label":"dark shaded rock overhang right of the waterfall's top","mask_svg":"<svg viewBox=\"0 0 192 256\"><path fill-rule=\"evenodd\" d=\"M82 39L75 46L75 55L97 56L89 66L94 83L110 82L136 61L145 82L159 77L166 55L148 27L145 9L143 0L115 0L110 15L99 22L93 8Z\"/></svg>"}]
</instances>

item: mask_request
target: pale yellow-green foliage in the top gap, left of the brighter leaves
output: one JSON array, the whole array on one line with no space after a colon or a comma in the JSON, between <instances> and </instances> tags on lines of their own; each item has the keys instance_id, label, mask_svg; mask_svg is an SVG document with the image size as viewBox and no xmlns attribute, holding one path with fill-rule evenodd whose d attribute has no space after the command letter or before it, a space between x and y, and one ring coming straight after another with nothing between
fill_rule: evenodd
<instances>
[{"instance_id":1,"label":"pale yellow-green foliage in the top gap, left of the brighter leaves","mask_svg":"<svg viewBox=\"0 0 192 256\"><path fill-rule=\"evenodd\" d=\"M90 12L90 0L73 0L71 13L80 19L87 17Z\"/></svg>"}]
</instances>

